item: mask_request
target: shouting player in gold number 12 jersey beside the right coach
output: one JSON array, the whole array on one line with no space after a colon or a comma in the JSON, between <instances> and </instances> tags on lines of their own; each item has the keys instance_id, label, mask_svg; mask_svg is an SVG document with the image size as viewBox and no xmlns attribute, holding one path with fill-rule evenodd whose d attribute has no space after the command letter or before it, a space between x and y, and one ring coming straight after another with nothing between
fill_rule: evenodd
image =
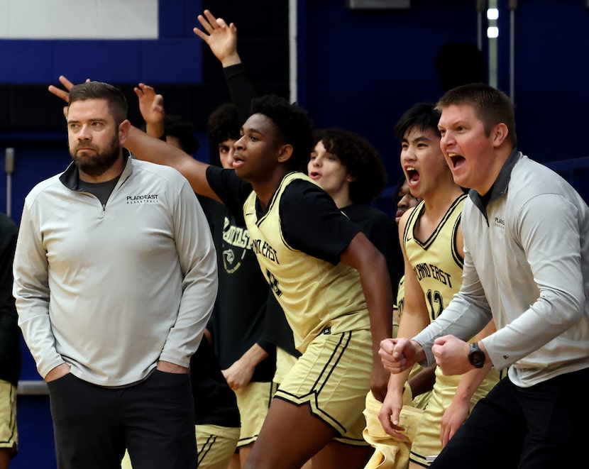
<instances>
[{"instance_id":1,"label":"shouting player in gold number 12 jersey beside the right coach","mask_svg":"<svg viewBox=\"0 0 589 469\"><path fill-rule=\"evenodd\" d=\"M411 192L423 200L400 220L404 253L404 310L399 337L412 337L443 313L461 286L463 239L460 226L465 194L453 182L439 148L439 113L431 104L417 104L395 127L402 142L401 165ZM494 330L494 325L481 334ZM385 431L400 436L398 420L402 390L409 370L391 375L379 414ZM428 466L468 416L475 402L497 382L490 366L461 376L436 370L434 390L424 409L412 444L409 468ZM430 458L428 458L428 456Z\"/></svg>"}]
</instances>

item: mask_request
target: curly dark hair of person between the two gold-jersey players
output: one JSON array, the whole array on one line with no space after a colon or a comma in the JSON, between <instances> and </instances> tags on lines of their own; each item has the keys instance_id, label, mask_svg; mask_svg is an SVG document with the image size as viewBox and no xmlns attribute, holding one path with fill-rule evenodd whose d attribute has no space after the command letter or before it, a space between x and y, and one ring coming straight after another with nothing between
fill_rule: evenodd
<instances>
[{"instance_id":1,"label":"curly dark hair of person between the two gold-jersey players","mask_svg":"<svg viewBox=\"0 0 589 469\"><path fill-rule=\"evenodd\" d=\"M355 178L350 182L352 202L368 203L385 188L387 171L380 153L358 133L341 128L326 128L316 131L314 144L319 142L329 153L336 155Z\"/></svg>"}]
</instances>

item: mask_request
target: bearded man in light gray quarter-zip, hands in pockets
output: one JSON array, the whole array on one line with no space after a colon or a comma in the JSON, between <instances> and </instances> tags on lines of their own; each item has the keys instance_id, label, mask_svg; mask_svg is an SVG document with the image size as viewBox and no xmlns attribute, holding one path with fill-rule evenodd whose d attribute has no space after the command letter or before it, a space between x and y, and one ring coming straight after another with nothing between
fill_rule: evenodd
<instances>
[{"instance_id":1,"label":"bearded man in light gray quarter-zip, hands in pockets","mask_svg":"<svg viewBox=\"0 0 589 469\"><path fill-rule=\"evenodd\" d=\"M59 469L194 469L188 375L216 297L209 226L180 173L123 148L126 99L70 91L72 164L23 209L18 324L48 382Z\"/></svg>"}]
</instances>

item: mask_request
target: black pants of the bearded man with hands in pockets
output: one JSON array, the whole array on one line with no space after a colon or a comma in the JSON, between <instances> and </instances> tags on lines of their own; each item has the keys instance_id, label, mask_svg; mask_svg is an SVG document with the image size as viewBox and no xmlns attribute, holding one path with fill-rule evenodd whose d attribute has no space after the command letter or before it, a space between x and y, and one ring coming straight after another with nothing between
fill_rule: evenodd
<instances>
[{"instance_id":1,"label":"black pants of the bearded man with hands in pockets","mask_svg":"<svg viewBox=\"0 0 589 469\"><path fill-rule=\"evenodd\" d=\"M189 375L155 370L107 388L71 373L48 384L58 469L194 469L197 445Z\"/></svg>"}]
</instances>

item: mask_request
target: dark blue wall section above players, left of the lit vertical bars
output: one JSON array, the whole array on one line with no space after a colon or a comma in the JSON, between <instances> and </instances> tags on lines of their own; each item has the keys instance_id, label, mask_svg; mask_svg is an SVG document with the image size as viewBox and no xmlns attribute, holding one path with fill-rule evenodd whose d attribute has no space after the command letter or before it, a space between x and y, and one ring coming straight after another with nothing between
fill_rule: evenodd
<instances>
[{"instance_id":1,"label":"dark blue wall section above players, left of the lit vertical bars","mask_svg":"<svg viewBox=\"0 0 589 469\"><path fill-rule=\"evenodd\" d=\"M368 138L393 183L400 176L397 118L415 102L441 96L434 67L441 45L476 42L474 2L412 3L409 10L358 11L343 8L343 0L314 1L304 18L307 70L299 86L309 114L318 127Z\"/></svg>"}]
</instances>

